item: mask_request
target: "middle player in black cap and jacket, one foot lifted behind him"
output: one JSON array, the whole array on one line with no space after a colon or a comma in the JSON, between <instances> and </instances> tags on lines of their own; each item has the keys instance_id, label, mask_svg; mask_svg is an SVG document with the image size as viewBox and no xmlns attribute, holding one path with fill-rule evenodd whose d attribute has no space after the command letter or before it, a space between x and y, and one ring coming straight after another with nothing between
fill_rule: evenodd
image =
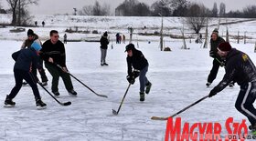
<instances>
[{"instance_id":1,"label":"middle player in black cap and jacket, one foot lifted behind him","mask_svg":"<svg viewBox=\"0 0 256 141\"><path fill-rule=\"evenodd\" d=\"M148 70L148 62L144 57L143 53L137 50L133 44L126 45L125 52L127 52L126 61L128 68L128 76L126 76L126 78L128 82L133 85L135 82L135 78L139 76L140 101L144 101L144 93L149 94L150 88L152 86L152 84L145 76Z\"/></svg>"}]
</instances>

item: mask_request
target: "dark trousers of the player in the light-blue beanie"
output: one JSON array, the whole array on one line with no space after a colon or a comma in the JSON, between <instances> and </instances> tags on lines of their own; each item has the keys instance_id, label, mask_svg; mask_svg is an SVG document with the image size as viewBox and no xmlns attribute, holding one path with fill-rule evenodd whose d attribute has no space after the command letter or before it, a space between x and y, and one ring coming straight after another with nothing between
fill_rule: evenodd
<instances>
[{"instance_id":1,"label":"dark trousers of the player in the light-blue beanie","mask_svg":"<svg viewBox=\"0 0 256 141\"><path fill-rule=\"evenodd\" d=\"M33 94L35 96L35 99L40 99L39 91L37 88L37 78L36 76L33 76L32 73L23 71L23 70L14 70L15 73L15 79L16 79L16 86L12 89L9 97L11 99L15 98L17 93L19 92L21 86L22 86L22 81L25 79L28 83L29 86L32 87Z\"/></svg>"}]
</instances>

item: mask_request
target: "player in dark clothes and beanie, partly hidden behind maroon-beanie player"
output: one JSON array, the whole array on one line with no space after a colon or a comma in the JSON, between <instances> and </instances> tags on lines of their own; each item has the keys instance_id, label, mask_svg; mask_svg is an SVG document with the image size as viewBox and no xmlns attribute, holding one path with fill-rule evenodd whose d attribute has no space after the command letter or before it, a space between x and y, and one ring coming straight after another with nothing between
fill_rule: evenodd
<instances>
[{"instance_id":1,"label":"player in dark clothes and beanie, partly hidden behind maroon-beanie player","mask_svg":"<svg viewBox=\"0 0 256 141\"><path fill-rule=\"evenodd\" d=\"M217 53L218 45L223 42L225 42L225 40L219 36L218 29L214 29L211 34L210 50L209 50L209 55L213 58L213 62L212 62L212 68L208 75L208 83L206 84L206 86L210 86L213 80L216 78L219 71L219 65L224 66L224 61L221 59L221 57Z\"/></svg>"}]
</instances>

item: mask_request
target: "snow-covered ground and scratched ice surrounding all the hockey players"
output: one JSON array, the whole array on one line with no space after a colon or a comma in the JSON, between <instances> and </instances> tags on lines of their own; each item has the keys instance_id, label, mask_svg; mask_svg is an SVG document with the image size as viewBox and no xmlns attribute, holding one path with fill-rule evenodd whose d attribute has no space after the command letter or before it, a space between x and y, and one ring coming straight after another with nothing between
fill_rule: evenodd
<instances>
[{"instance_id":1,"label":"snow-covered ground and scratched ice surrounding all the hockey players","mask_svg":"<svg viewBox=\"0 0 256 141\"><path fill-rule=\"evenodd\" d=\"M0 20L6 21L7 17ZM70 26L82 26L82 29L97 29L101 32L108 30L112 32L112 38L116 32L127 34L126 27L133 25L136 30L144 25L150 27L147 32L159 31L161 18L137 18L137 17L86 17L79 22L77 19L71 21L69 16L58 16L53 19L51 25L50 15L36 17L38 23L45 20L46 27L26 27L32 28L43 40L48 38L51 29L59 30L59 35L64 35L65 29ZM66 21L65 21L66 19ZM96 19L96 21L95 21ZM169 23L170 20L173 23ZM165 20L168 25L168 33L179 33L181 27L178 18ZM239 19L229 19L236 21ZM63 23L66 22L66 23ZM88 22L89 21L89 22ZM91 22L90 22L91 21ZM57 23L56 23L57 22ZM84 24L82 24L84 22ZM128 24L127 24L128 23ZM215 23L217 23L215 21ZM62 25L60 25L62 24ZM112 26L120 28L112 28ZM255 22L228 25L229 31L240 33L245 31L251 36L252 44L236 44L236 40L231 39L231 45L251 56L251 60L256 64L254 53ZM215 26L211 26L209 31ZM145 97L144 103L139 101L139 84L136 80L124 100L122 109L118 116L112 115L112 109L117 110L123 98L123 94L128 86L126 81L126 53L124 44L109 45L107 62L109 66L100 65L100 48L98 42L73 42L66 45L67 65L70 73L78 77L87 86L90 86L99 94L109 96L108 99L95 96L86 87L80 85L72 79L73 86L78 92L77 97L71 97L65 90L62 80L59 80L59 101L72 102L71 106L59 106L59 104L48 96L48 93L39 87L39 92L48 108L37 110L32 90L29 86L24 86L16 96L15 108L4 108L5 95L8 95L15 85L13 76L14 61L11 54L19 50L22 40L27 33L10 33L13 27L0 28L0 140L81 140L81 141L159 141L165 138L166 122L153 121L151 116L170 116L175 114L187 105L197 101L197 99L208 95L213 86L216 86L224 75L224 69L219 69L217 79L213 85L205 86L212 59L208 56L208 49L201 48L200 44L188 43L189 50L180 49L182 40L165 37L165 46L170 46L172 52L160 52L158 36L138 35L139 50L142 50L149 62L148 79L153 83L151 93ZM225 35L226 26L220 26ZM250 30L250 31L249 31ZM187 32L191 32L187 30ZM242 35L242 34L241 34ZM99 38L99 35L69 34L72 39L87 37ZM61 38L60 38L61 39ZM137 46L134 35L135 46ZM147 41L152 41L149 44ZM188 40L187 40L188 41ZM192 41L193 42L193 41ZM240 43L242 40L240 40ZM128 42L126 42L128 43ZM127 44L126 44L127 45ZM50 91L51 76L47 71ZM226 135L224 130L226 119L231 116L236 122L246 119L238 111L234 104L240 88L226 88L218 96L208 98L197 106L193 106L186 112L180 114L182 122L220 122L223 127L222 135ZM1 104L2 102L2 104ZM249 123L247 122L247 125Z\"/></svg>"}]
</instances>

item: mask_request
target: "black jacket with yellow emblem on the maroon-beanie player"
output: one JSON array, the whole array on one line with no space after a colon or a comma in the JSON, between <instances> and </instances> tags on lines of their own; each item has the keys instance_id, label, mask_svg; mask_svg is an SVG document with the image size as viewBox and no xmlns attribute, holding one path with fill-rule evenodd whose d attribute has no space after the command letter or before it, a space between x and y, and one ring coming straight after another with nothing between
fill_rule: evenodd
<instances>
[{"instance_id":1,"label":"black jacket with yellow emblem on the maroon-beanie player","mask_svg":"<svg viewBox=\"0 0 256 141\"><path fill-rule=\"evenodd\" d=\"M226 57L226 74L213 90L218 93L229 85L229 82L237 82L239 86L256 81L256 67L250 57L245 53L232 48Z\"/></svg>"}]
</instances>

